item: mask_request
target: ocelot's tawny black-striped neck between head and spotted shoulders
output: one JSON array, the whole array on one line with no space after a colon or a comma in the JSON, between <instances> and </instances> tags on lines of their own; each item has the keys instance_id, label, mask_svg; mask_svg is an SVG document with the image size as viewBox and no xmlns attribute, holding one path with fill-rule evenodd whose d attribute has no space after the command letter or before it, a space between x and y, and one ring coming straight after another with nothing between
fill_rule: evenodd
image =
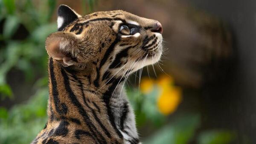
<instances>
[{"instance_id":1,"label":"ocelot's tawny black-striped neck between head and spotted shoulders","mask_svg":"<svg viewBox=\"0 0 256 144\"><path fill-rule=\"evenodd\" d=\"M108 137L116 133L122 138L110 107L119 80L109 84L104 93L96 92L91 81L90 76L67 69L50 58L48 123L65 119L86 126L90 131L100 126Z\"/></svg>"}]
</instances>

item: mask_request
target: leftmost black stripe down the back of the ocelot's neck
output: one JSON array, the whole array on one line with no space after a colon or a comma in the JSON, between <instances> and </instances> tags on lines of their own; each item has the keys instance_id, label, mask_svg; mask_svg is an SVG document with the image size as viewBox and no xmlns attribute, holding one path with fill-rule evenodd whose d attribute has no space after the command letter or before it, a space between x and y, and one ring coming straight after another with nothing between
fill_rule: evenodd
<instances>
[{"instance_id":1,"label":"leftmost black stripe down the back of the ocelot's neck","mask_svg":"<svg viewBox=\"0 0 256 144\"><path fill-rule=\"evenodd\" d=\"M52 96L53 102L55 104L55 109L60 115L67 114L67 106L64 103L61 103L60 99L58 98L58 87L54 73L54 66L53 66L53 59L50 58L49 61L49 71L50 71L50 78L52 84Z\"/></svg>"}]
</instances>

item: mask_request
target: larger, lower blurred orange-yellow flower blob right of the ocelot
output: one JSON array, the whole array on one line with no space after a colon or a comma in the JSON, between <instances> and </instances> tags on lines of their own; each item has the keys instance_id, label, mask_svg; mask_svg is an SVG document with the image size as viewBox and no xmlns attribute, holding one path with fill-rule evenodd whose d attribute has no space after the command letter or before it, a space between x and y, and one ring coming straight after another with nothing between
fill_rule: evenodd
<instances>
[{"instance_id":1,"label":"larger, lower blurred orange-yellow flower blob right of the ocelot","mask_svg":"<svg viewBox=\"0 0 256 144\"><path fill-rule=\"evenodd\" d=\"M175 112L181 101L181 89L169 88L164 89L157 100L157 107L163 115L169 115Z\"/></svg>"}]
</instances>

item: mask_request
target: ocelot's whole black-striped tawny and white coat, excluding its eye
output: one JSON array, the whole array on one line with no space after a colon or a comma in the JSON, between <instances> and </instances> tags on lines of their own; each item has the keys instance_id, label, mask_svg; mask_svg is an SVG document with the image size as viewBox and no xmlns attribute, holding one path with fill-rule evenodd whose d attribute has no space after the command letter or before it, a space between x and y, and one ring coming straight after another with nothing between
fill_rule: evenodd
<instances>
[{"instance_id":1,"label":"ocelot's whole black-striped tawny and white coat, excluding its eye","mask_svg":"<svg viewBox=\"0 0 256 144\"><path fill-rule=\"evenodd\" d=\"M122 25L134 34L120 34ZM80 16L61 5L58 31L46 40L48 121L32 144L139 144L123 85L160 59L159 22L121 10Z\"/></svg>"}]
</instances>

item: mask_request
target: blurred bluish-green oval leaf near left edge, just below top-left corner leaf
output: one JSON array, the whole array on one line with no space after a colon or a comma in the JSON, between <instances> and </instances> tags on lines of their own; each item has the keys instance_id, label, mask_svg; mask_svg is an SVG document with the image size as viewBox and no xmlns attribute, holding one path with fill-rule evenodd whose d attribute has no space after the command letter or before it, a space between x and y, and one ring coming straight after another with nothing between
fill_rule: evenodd
<instances>
[{"instance_id":1,"label":"blurred bluish-green oval leaf near left edge, just below top-left corner leaf","mask_svg":"<svg viewBox=\"0 0 256 144\"><path fill-rule=\"evenodd\" d=\"M3 36L5 38L10 38L16 32L20 20L17 16L8 16L6 17L4 26L3 26Z\"/></svg>"}]
</instances>

